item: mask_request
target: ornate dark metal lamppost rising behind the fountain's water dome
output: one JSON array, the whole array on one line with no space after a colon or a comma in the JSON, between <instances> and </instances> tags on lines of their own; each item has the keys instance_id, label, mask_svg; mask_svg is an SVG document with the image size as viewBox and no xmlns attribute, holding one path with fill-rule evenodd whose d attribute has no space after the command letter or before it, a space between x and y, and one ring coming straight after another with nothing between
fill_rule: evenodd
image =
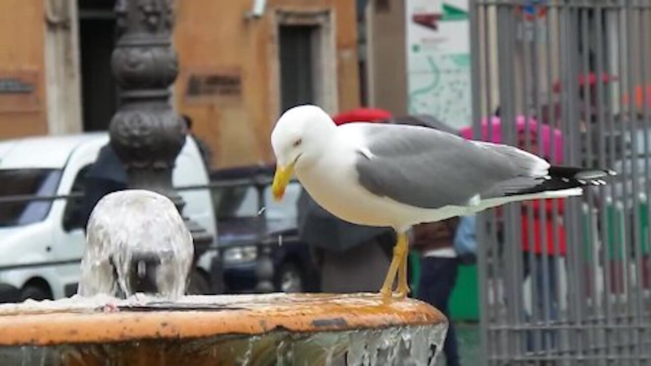
<instances>
[{"instance_id":1,"label":"ornate dark metal lamppost rising behind the fountain's water dome","mask_svg":"<svg viewBox=\"0 0 651 366\"><path fill-rule=\"evenodd\" d=\"M118 41L111 65L121 104L109 127L111 146L126 166L130 188L161 193L183 212L185 202L172 186L174 162L187 132L169 101L178 74L171 44L173 1L117 0L115 12ZM212 236L195 221L185 220L196 259L208 249Z\"/></svg>"}]
</instances>

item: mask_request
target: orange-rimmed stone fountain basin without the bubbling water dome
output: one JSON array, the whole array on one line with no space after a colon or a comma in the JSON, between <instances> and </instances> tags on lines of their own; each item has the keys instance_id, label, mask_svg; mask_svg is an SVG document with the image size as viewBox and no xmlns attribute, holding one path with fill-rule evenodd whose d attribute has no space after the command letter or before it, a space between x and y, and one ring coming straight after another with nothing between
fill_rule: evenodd
<instances>
[{"instance_id":1,"label":"orange-rimmed stone fountain basin without the bubbling water dome","mask_svg":"<svg viewBox=\"0 0 651 366\"><path fill-rule=\"evenodd\" d=\"M447 320L378 294L72 298L0 307L0 364L428 365Z\"/></svg>"}]
</instances>

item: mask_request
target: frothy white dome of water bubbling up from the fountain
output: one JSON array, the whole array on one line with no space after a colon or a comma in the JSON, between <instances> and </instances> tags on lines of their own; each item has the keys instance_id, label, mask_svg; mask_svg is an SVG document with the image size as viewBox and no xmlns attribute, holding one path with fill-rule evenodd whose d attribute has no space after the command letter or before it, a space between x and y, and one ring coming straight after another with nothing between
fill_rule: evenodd
<instances>
[{"instance_id":1,"label":"frothy white dome of water bubbling up from the fountain","mask_svg":"<svg viewBox=\"0 0 651 366\"><path fill-rule=\"evenodd\" d=\"M90 215L78 293L127 298L146 292L174 300L185 294L193 255L192 236L167 197L111 193Z\"/></svg>"}]
</instances>

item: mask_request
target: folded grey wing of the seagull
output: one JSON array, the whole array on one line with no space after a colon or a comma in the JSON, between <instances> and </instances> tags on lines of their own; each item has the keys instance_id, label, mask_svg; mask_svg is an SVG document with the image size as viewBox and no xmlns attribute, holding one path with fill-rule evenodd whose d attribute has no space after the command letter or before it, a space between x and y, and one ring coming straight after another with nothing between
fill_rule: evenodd
<instances>
[{"instance_id":1,"label":"folded grey wing of the seagull","mask_svg":"<svg viewBox=\"0 0 651 366\"><path fill-rule=\"evenodd\" d=\"M514 147L432 128L367 124L364 134L368 151L359 152L355 165L359 183L376 195L422 208L466 205L476 195L531 187L549 166Z\"/></svg>"}]
</instances>

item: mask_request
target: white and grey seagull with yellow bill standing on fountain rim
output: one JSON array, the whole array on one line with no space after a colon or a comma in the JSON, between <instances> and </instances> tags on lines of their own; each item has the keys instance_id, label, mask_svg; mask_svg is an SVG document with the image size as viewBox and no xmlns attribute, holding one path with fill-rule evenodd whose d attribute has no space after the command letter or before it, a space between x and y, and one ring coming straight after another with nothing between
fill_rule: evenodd
<instances>
[{"instance_id":1,"label":"white and grey seagull with yellow bill standing on fountain rim","mask_svg":"<svg viewBox=\"0 0 651 366\"><path fill-rule=\"evenodd\" d=\"M275 199L283 199L296 175L331 214L396 231L393 259L380 289L384 298L404 298L409 292L407 232L413 225L511 202L581 195L583 186L605 184L603 178L615 174L551 166L516 147L423 126L337 126L326 111L311 105L281 115L271 132L271 147Z\"/></svg>"}]
</instances>

